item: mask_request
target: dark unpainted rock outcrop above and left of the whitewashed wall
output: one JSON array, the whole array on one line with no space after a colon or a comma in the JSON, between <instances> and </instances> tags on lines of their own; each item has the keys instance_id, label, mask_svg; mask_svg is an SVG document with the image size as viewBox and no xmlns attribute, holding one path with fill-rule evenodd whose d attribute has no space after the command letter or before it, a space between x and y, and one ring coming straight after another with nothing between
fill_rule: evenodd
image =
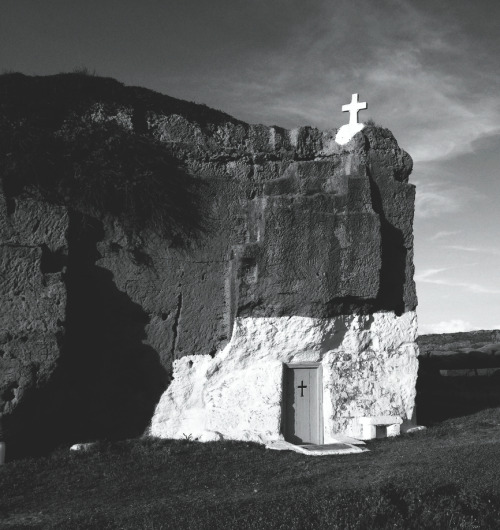
<instances>
[{"instance_id":1,"label":"dark unpainted rock outcrop above and left of the whitewashed wall","mask_svg":"<svg viewBox=\"0 0 500 530\"><path fill-rule=\"evenodd\" d=\"M3 81L4 132L32 116L55 138L72 138L85 127L108 130L104 124L141 146L154 144L155 153L196 183L196 200L165 235L134 230L112 208L82 209L71 193L60 197L51 189L33 199L29 186L4 180L0 244L10 272L0 297L12 310L2 320L0 395L12 433L21 424L38 429L33 418L47 407L42 399L28 406L27 396L41 387L59 404L43 421L75 441L142 432L173 362L192 355L205 356L207 366L218 362L241 319L301 317L334 325L388 314L411 321L417 303L412 161L390 131L367 127L339 146L335 129L248 125L113 80ZM58 103L54 94L68 99ZM7 160L5 149L0 154ZM172 193L182 187L179 175L153 177L167 191L171 182ZM179 228L183 223L189 229ZM391 352L413 344L412 334ZM412 351L404 361L411 370ZM380 352L367 347L363 355ZM410 398L397 399L401 414L409 414ZM385 414L394 407L382 408Z\"/></svg>"}]
</instances>

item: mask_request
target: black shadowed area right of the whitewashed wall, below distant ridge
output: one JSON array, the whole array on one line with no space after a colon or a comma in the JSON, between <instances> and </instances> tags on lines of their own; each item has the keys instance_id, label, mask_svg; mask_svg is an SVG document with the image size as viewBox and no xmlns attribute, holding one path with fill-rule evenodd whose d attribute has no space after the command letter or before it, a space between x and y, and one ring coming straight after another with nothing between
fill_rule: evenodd
<instances>
[{"instance_id":1,"label":"black shadowed area right of the whitewashed wall, below distant ridge","mask_svg":"<svg viewBox=\"0 0 500 530\"><path fill-rule=\"evenodd\" d=\"M420 425L500 407L500 369L489 376L450 377L421 360L416 405Z\"/></svg>"}]
</instances>

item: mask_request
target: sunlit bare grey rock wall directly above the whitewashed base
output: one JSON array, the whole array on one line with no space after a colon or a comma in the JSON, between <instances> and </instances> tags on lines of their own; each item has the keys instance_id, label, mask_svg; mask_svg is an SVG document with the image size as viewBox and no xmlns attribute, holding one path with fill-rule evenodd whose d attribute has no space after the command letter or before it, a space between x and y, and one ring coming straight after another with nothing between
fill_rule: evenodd
<instances>
[{"instance_id":1,"label":"sunlit bare grey rock wall directly above the whitewashed base","mask_svg":"<svg viewBox=\"0 0 500 530\"><path fill-rule=\"evenodd\" d=\"M411 159L388 131L367 129L341 148L334 130L146 118L200 178L203 231L175 248L107 222L97 263L148 313L164 365L213 355L237 315L415 308Z\"/></svg>"}]
</instances>

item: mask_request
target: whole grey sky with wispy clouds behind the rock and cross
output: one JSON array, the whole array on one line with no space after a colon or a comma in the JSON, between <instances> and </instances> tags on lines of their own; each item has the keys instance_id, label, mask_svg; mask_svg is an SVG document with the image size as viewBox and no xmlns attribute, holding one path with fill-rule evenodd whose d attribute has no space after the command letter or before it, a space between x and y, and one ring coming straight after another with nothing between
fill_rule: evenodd
<instances>
[{"instance_id":1,"label":"whole grey sky with wispy clouds behind the rock and cross","mask_svg":"<svg viewBox=\"0 0 500 530\"><path fill-rule=\"evenodd\" d=\"M340 127L359 93L413 158L419 332L500 329L497 0L0 0L0 70L87 68L249 123Z\"/></svg>"}]
</instances>

